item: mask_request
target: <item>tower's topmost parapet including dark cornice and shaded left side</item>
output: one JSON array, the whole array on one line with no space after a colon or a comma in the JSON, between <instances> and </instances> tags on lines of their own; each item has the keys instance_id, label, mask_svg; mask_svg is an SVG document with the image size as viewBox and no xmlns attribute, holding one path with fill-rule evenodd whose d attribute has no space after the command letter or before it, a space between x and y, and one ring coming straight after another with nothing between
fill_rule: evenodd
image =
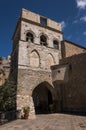
<instances>
[{"instance_id":1,"label":"tower's topmost parapet including dark cornice and shaded left side","mask_svg":"<svg viewBox=\"0 0 86 130\"><path fill-rule=\"evenodd\" d=\"M21 21L25 21L27 23L31 23L31 24L46 28L48 30L57 32L61 35L63 34L62 28L61 28L61 23L57 23L49 18L46 18L39 14L33 13L33 12L23 8L21 11L21 15L18 19L18 22L16 24L16 28L15 28L12 39L15 37L15 33L19 32L19 29L21 28ZM18 35L16 35L16 36L18 36Z\"/></svg>"}]
</instances>

